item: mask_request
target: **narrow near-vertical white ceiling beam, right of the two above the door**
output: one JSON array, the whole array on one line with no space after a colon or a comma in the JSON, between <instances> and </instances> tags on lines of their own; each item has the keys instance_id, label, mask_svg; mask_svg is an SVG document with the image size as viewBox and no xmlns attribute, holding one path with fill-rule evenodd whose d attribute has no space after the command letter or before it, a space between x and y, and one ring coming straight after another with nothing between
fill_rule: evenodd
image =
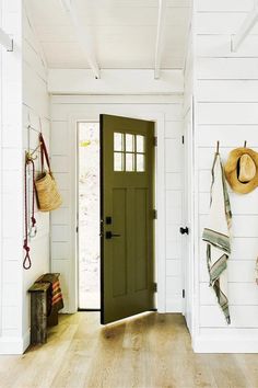
<instances>
[{"instance_id":1,"label":"narrow near-vertical white ceiling beam, right of the two above the door","mask_svg":"<svg viewBox=\"0 0 258 388\"><path fill-rule=\"evenodd\" d=\"M166 0L159 0L159 16L157 16L157 30L156 30L156 45L155 45L155 67L154 78L159 79L161 76L161 61L164 43L164 30L166 18Z\"/></svg>"}]
</instances>

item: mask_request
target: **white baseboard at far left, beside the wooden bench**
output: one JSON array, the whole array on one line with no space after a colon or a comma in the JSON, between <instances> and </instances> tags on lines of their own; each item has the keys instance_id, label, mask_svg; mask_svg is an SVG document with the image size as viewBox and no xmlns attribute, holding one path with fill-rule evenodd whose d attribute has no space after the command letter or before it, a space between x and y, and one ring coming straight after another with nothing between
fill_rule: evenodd
<instances>
[{"instance_id":1,"label":"white baseboard at far left, beside the wooden bench","mask_svg":"<svg viewBox=\"0 0 258 388\"><path fill-rule=\"evenodd\" d=\"M30 345L31 330L23 336L0 338L0 354L23 354Z\"/></svg>"}]
</instances>

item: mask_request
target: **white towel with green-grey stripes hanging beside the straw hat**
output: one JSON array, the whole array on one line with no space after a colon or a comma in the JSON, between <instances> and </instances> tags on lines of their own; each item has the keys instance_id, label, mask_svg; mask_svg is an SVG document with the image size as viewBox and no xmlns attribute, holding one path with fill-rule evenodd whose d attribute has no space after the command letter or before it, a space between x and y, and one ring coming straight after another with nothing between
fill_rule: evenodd
<instances>
[{"instance_id":1,"label":"white towel with green-grey stripes hanging beside the straw hat","mask_svg":"<svg viewBox=\"0 0 258 388\"><path fill-rule=\"evenodd\" d=\"M231 317L227 299L226 262L231 253L231 204L224 170L220 155L215 153L212 167L210 213L202 240L207 242L207 264L210 275L210 286L215 292L218 303L228 324L231 323Z\"/></svg>"}]
</instances>

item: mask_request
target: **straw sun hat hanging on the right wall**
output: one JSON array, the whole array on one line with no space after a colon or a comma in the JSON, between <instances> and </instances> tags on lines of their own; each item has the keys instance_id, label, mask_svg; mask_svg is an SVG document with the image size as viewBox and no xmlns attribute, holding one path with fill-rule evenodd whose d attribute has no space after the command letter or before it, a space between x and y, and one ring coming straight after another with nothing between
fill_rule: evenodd
<instances>
[{"instance_id":1,"label":"straw sun hat hanging on the right wall","mask_svg":"<svg viewBox=\"0 0 258 388\"><path fill-rule=\"evenodd\" d=\"M224 169L234 192L247 194L258 186L258 153L253 149L243 147L231 151Z\"/></svg>"}]
</instances>

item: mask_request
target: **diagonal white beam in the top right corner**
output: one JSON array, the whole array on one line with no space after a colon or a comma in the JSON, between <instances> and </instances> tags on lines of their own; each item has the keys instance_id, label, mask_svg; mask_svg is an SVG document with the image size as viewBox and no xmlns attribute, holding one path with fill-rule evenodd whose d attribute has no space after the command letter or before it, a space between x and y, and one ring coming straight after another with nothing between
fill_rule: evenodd
<instances>
[{"instance_id":1,"label":"diagonal white beam in the top right corner","mask_svg":"<svg viewBox=\"0 0 258 388\"><path fill-rule=\"evenodd\" d=\"M254 9L248 13L241 28L232 38L232 50L237 52L242 43L249 35L255 24L258 22L258 0L254 0Z\"/></svg>"}]
</instances>

